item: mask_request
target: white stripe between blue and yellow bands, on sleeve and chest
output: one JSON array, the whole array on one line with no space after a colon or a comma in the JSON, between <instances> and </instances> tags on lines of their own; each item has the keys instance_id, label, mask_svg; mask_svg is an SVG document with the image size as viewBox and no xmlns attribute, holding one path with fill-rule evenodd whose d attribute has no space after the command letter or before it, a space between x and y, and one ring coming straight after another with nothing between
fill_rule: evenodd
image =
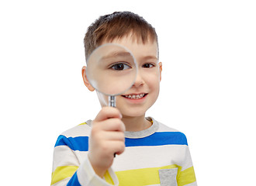
<instances>
[{"instance_id":1,"label":"white stripe between blue and yellow bands, on sleeve and chest","mask_svg":"<svg viewBox=\"0 0 256 186\"><path fill-rule=\"evenodd\" d=\"M68 146L56 146L54 150L54 167L80 166L88 152L71 150ZM62 160L66 160L63 162ZM134 160L133 163L130 160ZM125 171L148 167L163 167L177 164L182 171L192 167L189 147L185 145L167 146L131 146L124 153L116 156L112 168L114 171Z\"/></svg>"}]
</instances>

